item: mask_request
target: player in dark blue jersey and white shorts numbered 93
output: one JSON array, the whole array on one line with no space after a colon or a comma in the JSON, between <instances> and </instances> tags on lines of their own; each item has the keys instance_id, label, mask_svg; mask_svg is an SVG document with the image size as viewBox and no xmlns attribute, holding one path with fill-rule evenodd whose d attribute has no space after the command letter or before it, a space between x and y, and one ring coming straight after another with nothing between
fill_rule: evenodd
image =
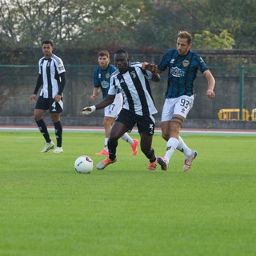
<instances>
[{"instance_id":1,"label":"player in dark blue jersey and white shorts numbered 93","mask_svg":"<svg viewBox=\"0 0 256 256\"><path fill-rule=\"evenodd\" d=\"M178 149L185 154L183 170L186 171L198 153L186 146L179 130L193 106L194 79L200 70L208 82L206 96L211 99L215 97L215 79L202 58L190 50L192 37L187 31L178 33L176 46L176 50L166 51L159 65L144 62L143 68L158 74L169 68L166 100L162 108L162 138L166 140L166 154L163 158L158 157L158 163L162 170L167 170L174 150Z\"/></svg>"}]
</instances>

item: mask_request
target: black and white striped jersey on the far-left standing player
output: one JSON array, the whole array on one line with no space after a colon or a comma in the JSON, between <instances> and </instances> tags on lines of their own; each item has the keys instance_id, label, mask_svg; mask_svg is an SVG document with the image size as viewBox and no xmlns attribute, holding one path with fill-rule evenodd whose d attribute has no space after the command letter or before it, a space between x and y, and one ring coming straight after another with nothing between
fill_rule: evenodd
<instances>
[{"instance_id":1,"label":"black and white striped jersey on the far-left standing player","mask_svg":"<svg viewBox=\"0 0 256 256\"><path fill-rule=\"evenodd\" d=\"M58 94L58 86L61 82L59 74L66 72L62 59L52 54L48 59L40 58L38 66L39 74L42 75L40 96L43 98L54 98Z\"/></svg>"}]
</instances>

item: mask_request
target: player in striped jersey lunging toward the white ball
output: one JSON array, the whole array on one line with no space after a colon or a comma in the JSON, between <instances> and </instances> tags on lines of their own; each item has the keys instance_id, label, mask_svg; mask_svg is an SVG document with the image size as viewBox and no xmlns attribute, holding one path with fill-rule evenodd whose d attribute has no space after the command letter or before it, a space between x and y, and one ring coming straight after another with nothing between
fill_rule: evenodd
<instances>
[{"instance_id":1,"label":"player in striped jersey lunging toward the white ball","mask_svg":"<svg viewBox=\"0 0 256 256\"><path fill-rule=\"evenodd\" d=\"M160 76L159 74L152 74L148 70L142 70L142 63L140 62L129 62L128 54L125 50L116 51L114 63L118 70L111 74L110 90L107 97L96 106L85 107L81 112L81 114L90 114L94 110L109 106L114 102L115 95L119 92L122 93L122 110L112 126L107 143L109 157L99 162L97 169L102 170L117 161L116 148L118 139L122 137L122 134L132 130L134 125L137 124L141 138L141 150L150 161L148 170L154 171L157 166L157 158L155 157L154 149L151 147L155 126L153 115L158 111L154 106L148 79L159 82Z\"/></svg>"}]
</instances>

